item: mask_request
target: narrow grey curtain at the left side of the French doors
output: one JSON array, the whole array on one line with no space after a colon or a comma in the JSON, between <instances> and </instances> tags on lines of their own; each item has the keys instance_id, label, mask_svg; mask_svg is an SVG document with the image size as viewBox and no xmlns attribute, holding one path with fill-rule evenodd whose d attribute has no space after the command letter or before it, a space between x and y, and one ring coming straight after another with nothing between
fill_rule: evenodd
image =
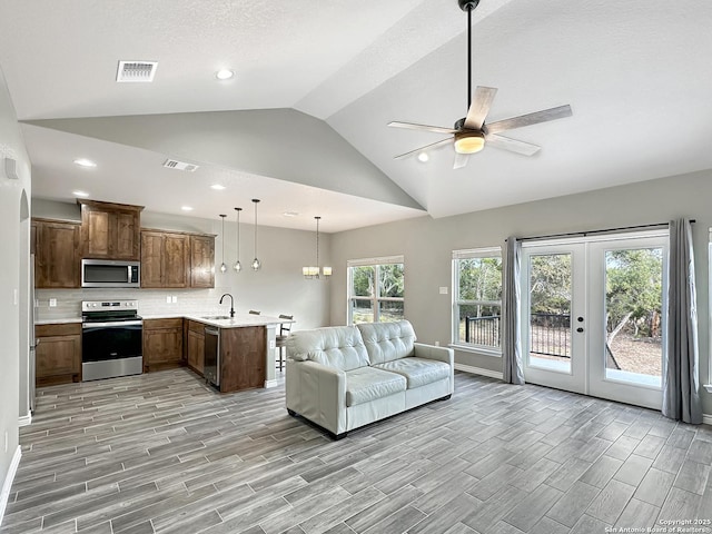
<instances>
[{"instance_id":1,"label":"narrow grey curtain at the left side of the French doors","mask_svg":"<svg viewBox=\"0 0 712 534\"><path fill-rule=\"evenodd\" d=\"M504 263L503 332L502 359L504 382L524 384L522 367L521 308L522 289L520 271L522 269L522 241L516 237L507 238L507 254Z\"/></svg>"}]
</instances>

